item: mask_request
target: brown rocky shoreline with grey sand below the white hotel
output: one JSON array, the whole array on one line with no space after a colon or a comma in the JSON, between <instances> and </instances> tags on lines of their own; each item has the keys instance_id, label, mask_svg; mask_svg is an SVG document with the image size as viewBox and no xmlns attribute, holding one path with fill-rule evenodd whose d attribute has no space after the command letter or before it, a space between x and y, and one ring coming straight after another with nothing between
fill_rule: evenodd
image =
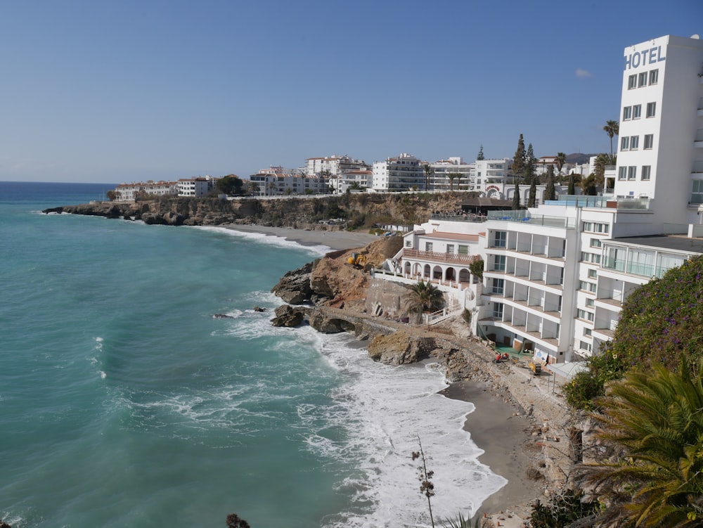
<instances>
[{"instance_id":1,"label":"brown rocky shoreline with grey sand below the white hotel","mask_svg":"<svg viewBox=\"0 0 703 528\"><path fill-rule=\"evenodd\" d=\"M399 242L378 240L354 252L363 252L370 267L392 257ZM493 521L503 527L521 527L536 499L545 500L565 487L573 465L573 417L555 391L555 377L548 371L535 377L527 358L495 363L494 350L472 337L460 317L429 329L375 314L370 294L388 283L344 264L351 252L332 252L286 273L272 289L287 303L276 310L273 325L309 324L322 333L354 333L368 343L373 359L392 365L441 362L452 382L447 397L471 401L484 412L491 409L470 414L467 423L480 420L479 426L472 425L472 437L486 451L484 463L509 475L503 475L508 479L505 488L485 501L482 510L494 512ZM394 293L402 295L403 287L396 287L400 290ZM502 421L495 416L501 413L507 413Z\"/></svg>"}]
</instances>

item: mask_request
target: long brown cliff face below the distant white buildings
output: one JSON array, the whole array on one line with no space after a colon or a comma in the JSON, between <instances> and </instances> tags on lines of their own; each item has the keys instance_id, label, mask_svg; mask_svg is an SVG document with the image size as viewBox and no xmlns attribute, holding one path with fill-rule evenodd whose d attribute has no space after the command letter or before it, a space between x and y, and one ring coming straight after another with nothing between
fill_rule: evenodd
<instances>
[{"instance_id":1,"label":"long brown cliff face below the distant white buildings","mask_svg":"<svg viewBox=\"0 0 703 528\"><path fill-rule=\"evenodd\" d=\"M91 202L53 207L44 212L88 214L143 220L147 224L217 226L262 224L306 227L320 220L342 219L353 227L413 224L433 212L451 213L473 193L359 193L322 198L160 198L136 203Z\"/></svg>"}]
</instances>

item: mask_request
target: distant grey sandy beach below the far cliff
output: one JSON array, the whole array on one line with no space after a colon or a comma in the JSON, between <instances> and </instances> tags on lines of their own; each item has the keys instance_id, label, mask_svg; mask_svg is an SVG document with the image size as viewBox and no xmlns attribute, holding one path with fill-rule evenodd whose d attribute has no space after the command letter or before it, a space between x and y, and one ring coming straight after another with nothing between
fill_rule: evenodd
<instances>
[{"instance_id":1,"label":"distant grey sandy beach below the far cliff","mask_svg":"<svg viewBox=\"0 0 703 528\"><path fill-rule=\"evenodd\" d=\"M228 229L245 233L262 233L270 236L280 236L300 245L326 245L330 250L352 250L364 247L378 236L356 231L307 231L291 227L269 227L257 224L228 224Z\"/></svg>"}]
</instances>

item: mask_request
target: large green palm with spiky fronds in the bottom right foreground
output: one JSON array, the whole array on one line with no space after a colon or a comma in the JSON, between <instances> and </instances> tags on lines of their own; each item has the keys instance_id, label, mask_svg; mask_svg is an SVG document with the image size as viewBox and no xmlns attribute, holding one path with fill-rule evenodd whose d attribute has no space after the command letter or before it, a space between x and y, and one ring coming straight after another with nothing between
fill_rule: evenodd
<instances>
[{"instance_id":1,"label":"large green palm with spiky fronds in the bottom right foreground","mask_svg":"<svg viewBox=\"0 0 703 528\"><path fill-rule=\"evenodd\" d=\"M618 456L581 467L606 499L600 525L703 526L703 363L631 371L600 405L597 437Z\"/></svg>"}]
</instances>

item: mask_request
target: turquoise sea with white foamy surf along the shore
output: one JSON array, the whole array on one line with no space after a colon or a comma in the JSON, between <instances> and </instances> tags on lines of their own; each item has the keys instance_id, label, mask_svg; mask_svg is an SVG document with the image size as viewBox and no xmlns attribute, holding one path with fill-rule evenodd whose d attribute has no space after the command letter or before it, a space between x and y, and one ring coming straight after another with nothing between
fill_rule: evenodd
<instances>
[{"instance_id":1,"label":"turquoise sea with white foamy surf along the shore","mask_svg":"<svg viewBox=\"0 0 703 528\"><path fill-rule=\"evenodd\" d=\"M273 328L325 247L41 214L111 185L0 182L0 518L25 527L428 526L505 484L437 365ZM253 311L254 306L267 309ZM231 318L214 318L227 314Z\"/></svg>"}]
</instances>

